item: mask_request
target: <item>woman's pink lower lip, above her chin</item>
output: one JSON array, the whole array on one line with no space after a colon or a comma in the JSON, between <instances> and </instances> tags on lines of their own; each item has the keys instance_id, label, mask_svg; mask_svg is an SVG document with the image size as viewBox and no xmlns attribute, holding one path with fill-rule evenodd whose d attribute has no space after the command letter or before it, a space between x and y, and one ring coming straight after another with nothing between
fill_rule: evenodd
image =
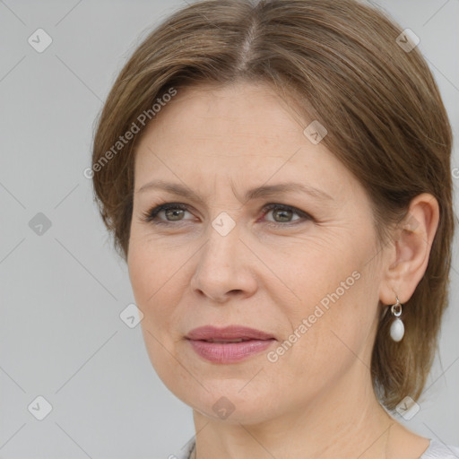
<instances>
[{"instance_id":1,"label":"woman's pink lower lip, above her chin","mask_svg":"<svg viewBox=\"0 0 459 459\"><path fill-rule=\"evenodd\" d=\"M243 342L188 341L198 355L214 363L231 363L247 359L264 351L275 342L274 339Z\"/></svg>"}]
</instances>

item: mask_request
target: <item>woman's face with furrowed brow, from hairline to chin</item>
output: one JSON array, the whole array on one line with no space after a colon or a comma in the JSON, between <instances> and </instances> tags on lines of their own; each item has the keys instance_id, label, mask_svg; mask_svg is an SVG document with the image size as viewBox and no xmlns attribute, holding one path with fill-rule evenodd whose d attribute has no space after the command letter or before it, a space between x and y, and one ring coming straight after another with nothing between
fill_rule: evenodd
<instances>
[{"instance_id":1,"label":"woman's face with furrowed brow, from hairline to chin","mask_svg":"<svg viewBox=\"0 0 459 459\"><path fill-rule=\"evenodd\" d=\"M370 381L382 282L371 205L292 113L264 84L188 88L136 152L128 267L146 348L169 390L214 419L268 420ZM144 187L158 180L176 191ZM176 207L143 221L165 203ZM186 339L204 325L274 339L215 361Z\"/></svg>"}]
</instances>

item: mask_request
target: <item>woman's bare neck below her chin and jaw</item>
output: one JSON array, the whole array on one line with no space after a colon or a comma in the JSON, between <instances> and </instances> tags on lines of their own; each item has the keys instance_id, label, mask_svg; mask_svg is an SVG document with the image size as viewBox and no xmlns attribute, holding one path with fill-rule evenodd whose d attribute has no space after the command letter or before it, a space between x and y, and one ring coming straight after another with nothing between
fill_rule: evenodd
<instances>
[{"instance_id":1,"label":"woman's bare neck below her chin and jaw","mask_svg":"<svg viewBox=\"0 0 459 459\"><path fill-rule=\"evenodd\" d=\"M394 420L377 402L370 378L362 378L364 371L357 361L340 384L257 424L194 410L196 459L385 459Z\"/></svg>"}]
</instances>

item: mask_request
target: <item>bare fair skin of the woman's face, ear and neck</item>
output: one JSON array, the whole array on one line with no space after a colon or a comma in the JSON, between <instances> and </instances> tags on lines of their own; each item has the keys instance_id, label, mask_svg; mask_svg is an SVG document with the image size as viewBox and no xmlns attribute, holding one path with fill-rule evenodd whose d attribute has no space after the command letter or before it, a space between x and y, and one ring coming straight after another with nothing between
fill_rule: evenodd
<instances>
[{"instance_id":1,"label":"bare fair skin of the woman's face, ear and neck","mask_svg":"<svg viewBox=\"0 0 459 459\"><path fill-rule=\"evenodd\" d=\"M264 83L199 85L161 109L136 151L129 275L152 365L193 408L198 459L414 459L429 446L377 402L369 367L382 308L395 292L410 299L425 273L437 201L413 199L415 228L397 230L381 250L365 190L324 143L303 134L308 123ZM154 179L186 185L200 200L139 191ZM332 199L241 197L283 182ZM142 220L163 203L188 209L175 220L160 212L165 225ZM312 219L264 212L271 203ZM221 212L236 224L226 236L212 227ZM211 363L185 339L201 325L247 325L272 333L273 351L354 272L359 280L275 362L264 351ZM226 419L212 410L223 396L234 406Z\"/></svg>"}]
</instances>

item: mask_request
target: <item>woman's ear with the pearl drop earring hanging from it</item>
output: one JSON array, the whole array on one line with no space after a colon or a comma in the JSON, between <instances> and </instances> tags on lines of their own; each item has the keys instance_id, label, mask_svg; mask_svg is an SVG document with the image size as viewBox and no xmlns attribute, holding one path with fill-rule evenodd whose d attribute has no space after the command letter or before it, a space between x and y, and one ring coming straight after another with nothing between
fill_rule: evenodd
<instances>
[{"instance_id":1,"label":"woman's ear with the pearl drop earring hanging from it","mask_svg":"<svg viewBox=\"0 0 459 459\"><path fill-rule=\"evenodd\" d=\"M439 207L428 193L411 200L408 213L393 233L393 243L386 247L383 280L379 299L384 305L411 298L429 263L430 247L437 232Z\"/></svg>"}]
</instances>

